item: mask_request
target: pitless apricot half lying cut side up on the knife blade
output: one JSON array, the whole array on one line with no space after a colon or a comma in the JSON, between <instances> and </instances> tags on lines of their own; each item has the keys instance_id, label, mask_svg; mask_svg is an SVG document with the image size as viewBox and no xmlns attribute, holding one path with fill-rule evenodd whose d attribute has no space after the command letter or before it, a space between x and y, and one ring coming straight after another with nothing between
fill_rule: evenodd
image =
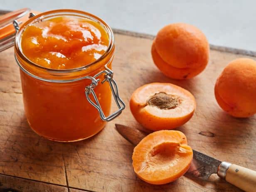
<instances>
[{"instance_id":1,"label":"pitless apricot half lying cut side up on the knife blade","mask_svg":"<svg viewBox=\"0 0 256 192\"><path fill-rule=\"evenodd\" d=\"M186 136L177 130L149 134L133 150L133 169L145 182L155 185L172 182L187 172L193 151Z\"/></svg>"}]
</instances>

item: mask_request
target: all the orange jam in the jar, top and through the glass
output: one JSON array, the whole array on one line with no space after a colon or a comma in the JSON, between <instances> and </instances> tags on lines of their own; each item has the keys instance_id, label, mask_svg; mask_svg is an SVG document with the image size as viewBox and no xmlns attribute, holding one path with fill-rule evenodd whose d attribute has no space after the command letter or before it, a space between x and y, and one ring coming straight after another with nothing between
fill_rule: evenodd
<instances>
[{"instance_id":1,"label":"all the orange jam in the jar, top and through the glass","mask_svg":"<svg viewBox=\"0 0 256 192\"><path fill-rule=\"evenodd\" d=\"M32 62L50 69L88 65L106 52L108 43L108 34L100 24L76 17L57 17L27 26L21 39L22 53ZM113 52L114 48L101 61L81 70L86 74L79 74L79 77L94 76L103 71L107 63L111 69ZM20 59L19 54L17 56ZM29 72L36 71L37 76L42 75L37 66L20 61ZM106 125L84 94L85 87L91 84L90 79L47 82L35 79L22 70L20 77L27 122L39 135L56 141L76 141L95 135ZM102 81L104 75L99 78ZM107 82L99 83L94 91L104 114L108 116L111 108L110 86Z\"/></svg>"}]
</instances>

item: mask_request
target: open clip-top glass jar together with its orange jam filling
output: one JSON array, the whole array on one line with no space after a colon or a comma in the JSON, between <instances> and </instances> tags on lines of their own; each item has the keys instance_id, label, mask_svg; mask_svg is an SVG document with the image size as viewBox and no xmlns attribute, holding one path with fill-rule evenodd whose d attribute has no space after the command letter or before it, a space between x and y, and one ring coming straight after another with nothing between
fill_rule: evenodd
<instances>
[{"instance_id":1,"label":"open clip-top glass jar together with its orange jam filling","mask_svg":"<svg viewBox=\"0 0 256 192\"><path fill-rule=\"evenodd\" d=\"M44 12L22 25L15 58L30 127L50 140L77 141L118 116L124 103L111 71L113 53L112 30L86 12ZM119 110L109 116L111 92Z\"/></svg>"}]
</instances>

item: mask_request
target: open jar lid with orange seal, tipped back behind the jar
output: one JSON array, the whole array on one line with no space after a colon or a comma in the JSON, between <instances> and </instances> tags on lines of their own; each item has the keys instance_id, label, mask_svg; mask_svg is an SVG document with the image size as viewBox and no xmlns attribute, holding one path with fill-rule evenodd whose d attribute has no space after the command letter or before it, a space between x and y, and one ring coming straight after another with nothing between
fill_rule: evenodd
<instances>
[{"instance_id":1,"label":"open jar lid with orange seal, tipped back behind the jar","mask_svg":"<svg viewBox=\"0 0 256 192\"><path fill-rule=\"evenodd\" d=\"M0 15L0 52L14 45L20 24L29 19L30 9L23 8ZM15 26L16 25L16 26Z\"/></svg>"}]
</instances>

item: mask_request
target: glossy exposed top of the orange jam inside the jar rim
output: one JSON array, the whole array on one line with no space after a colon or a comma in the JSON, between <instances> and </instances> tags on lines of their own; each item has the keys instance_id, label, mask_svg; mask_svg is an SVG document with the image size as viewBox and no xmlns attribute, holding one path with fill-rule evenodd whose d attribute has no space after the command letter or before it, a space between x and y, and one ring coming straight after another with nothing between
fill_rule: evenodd
<instances>
[{"instance_id":1,"label":"glossy exposed top of the orange jam inside the jar rim","mask_svg":"<svg viewBox=\"0 0 256 192\"><path fill-rule=\"evenodd\" d=\"M108 34L98 22L64 16L27 26L21 39L23 54L50 69L86 66L101 57L108 44Z\"/></svg>"}]
</instances>

